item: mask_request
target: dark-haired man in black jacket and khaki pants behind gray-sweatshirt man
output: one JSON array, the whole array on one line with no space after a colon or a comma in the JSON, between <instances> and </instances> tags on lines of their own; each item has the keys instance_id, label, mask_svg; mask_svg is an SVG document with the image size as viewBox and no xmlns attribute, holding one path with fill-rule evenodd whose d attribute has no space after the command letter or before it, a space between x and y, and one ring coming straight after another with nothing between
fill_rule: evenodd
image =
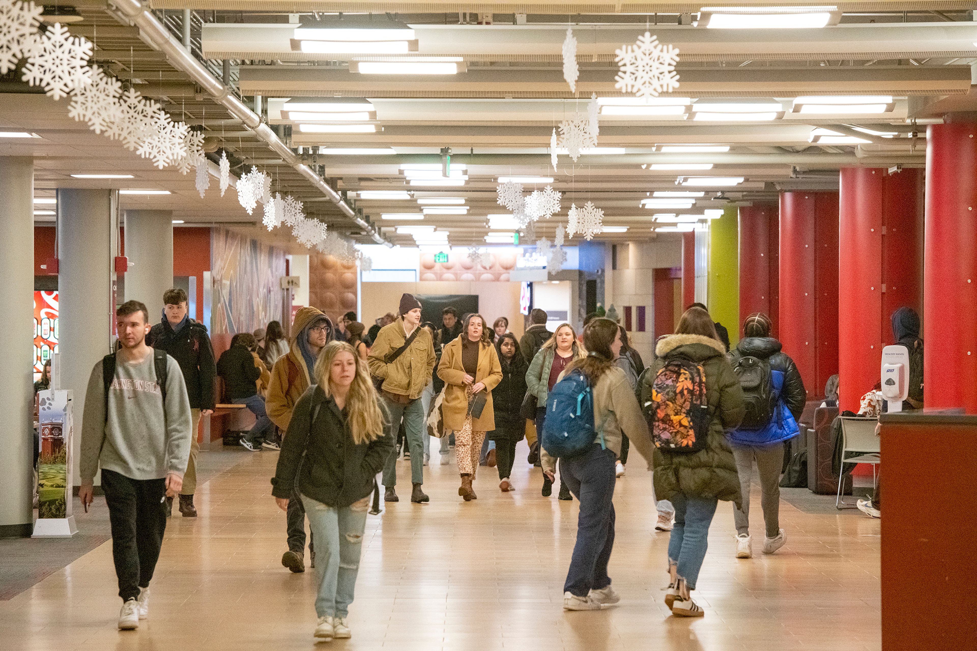
<instances>
[{"instance_id":1,"label":"dark-haired man in black jacket and khaki pants behind gray-sweatshirt man","mask_svg":"<svg viewBox=\"0 0 977 651\"><path fill-rule=\"evenodd\" d=\"M163 316L152 326L146 343L157 350L165 350L177 360L187 385L191 410L191 446L187 473L180 489L180 512L184 517L196 517L193 493L196 490L196 456L200 444L196 440L202 414L214 413L214 348L207 336L207 327L190 317L187 293L174 287L163 293ZM167 498L167 515L173 510L173 498Z\"/></svg>"}]
</instances>

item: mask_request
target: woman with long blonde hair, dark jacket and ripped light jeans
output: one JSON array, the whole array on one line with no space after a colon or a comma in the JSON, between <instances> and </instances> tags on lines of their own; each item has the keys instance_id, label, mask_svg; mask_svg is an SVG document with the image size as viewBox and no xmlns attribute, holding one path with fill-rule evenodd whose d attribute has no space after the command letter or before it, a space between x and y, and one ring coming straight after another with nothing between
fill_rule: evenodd
<instances>
[{"instance_id":1,"label":"woman with long blonde hair, dark jacket and ripped light jeans","mask_svg":"<svg viewBox=\"0 0 977 651\"><path fill-rule=\"evenodd\" d=\"M366 509L376 473L394 450L366 362L346 342L319 352L317 385L295 403L272 495L288 509L298 493L316 539L319 593L315 636L350 637L346 618L357 582Z\"/></svg>"}]
</instances>

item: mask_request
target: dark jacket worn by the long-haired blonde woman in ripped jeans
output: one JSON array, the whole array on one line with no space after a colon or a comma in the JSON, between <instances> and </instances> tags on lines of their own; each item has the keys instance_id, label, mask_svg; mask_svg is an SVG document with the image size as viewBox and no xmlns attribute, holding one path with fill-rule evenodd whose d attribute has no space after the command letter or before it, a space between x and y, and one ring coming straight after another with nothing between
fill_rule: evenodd
<instances>
[{"instance_id":1,"label":"dark jacket worn by the long-haired blonde woman in ripped jeans","mask_svg":"<svg viewBox=\"0 0 977 651\"><path fill-rule=\"evenodd\" d=\"M313 423L316 404L319 413ZM349 507L369 496L373 478L393 451L394 437L386 427L379 438L354 443L336 401L325 397L318 385L309 387L295 403L282 439L272 495L290 498L298 475L302 495L329 507Z\"/></svg>"}]
</instances>

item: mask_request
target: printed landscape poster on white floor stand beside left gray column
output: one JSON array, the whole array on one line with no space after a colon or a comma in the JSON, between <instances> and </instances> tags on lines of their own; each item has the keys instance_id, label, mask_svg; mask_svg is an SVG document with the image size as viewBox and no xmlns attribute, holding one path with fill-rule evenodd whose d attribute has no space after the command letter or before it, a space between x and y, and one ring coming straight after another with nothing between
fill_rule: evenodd
<instances>
[{"instance_id":1,"label":"printed landscape poster on white floor stand beside left gray column","mask_svg":"<svg viewBox=\"0 0 977 651\"><path fill-rule=\"evenodd\" d=\"M46 389L38 391L38 426L41 432L41 455L37 461L37 516L63 518L71 515L71 486L68 468L71 463L71 391Z\"/></svg>"}]
</instances>

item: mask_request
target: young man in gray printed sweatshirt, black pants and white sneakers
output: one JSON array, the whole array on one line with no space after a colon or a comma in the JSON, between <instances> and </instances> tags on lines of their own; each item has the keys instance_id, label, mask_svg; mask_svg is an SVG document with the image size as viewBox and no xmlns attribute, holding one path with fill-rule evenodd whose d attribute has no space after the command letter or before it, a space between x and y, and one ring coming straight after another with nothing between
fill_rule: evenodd
<instances>
[{"instance_id":1,"label":"young man in gray printed sweatshirt, black pants and white sneakers","mask_svg":"<svg viewBox=\"0 0 977 651\"><path fill-rule=\"evenodd\" d=\"M166 529L166 498L180 493L190 456L191 410L180 365L169 355L160 386L155 353L146 345L146 305L128 301L115 315L120 346L107 394L106 360L92 369L85 392L78 497L88 511L101 467L123 602L118 628L131 630L149 612L149 581Z\"/></svg>"}]
</instances>

